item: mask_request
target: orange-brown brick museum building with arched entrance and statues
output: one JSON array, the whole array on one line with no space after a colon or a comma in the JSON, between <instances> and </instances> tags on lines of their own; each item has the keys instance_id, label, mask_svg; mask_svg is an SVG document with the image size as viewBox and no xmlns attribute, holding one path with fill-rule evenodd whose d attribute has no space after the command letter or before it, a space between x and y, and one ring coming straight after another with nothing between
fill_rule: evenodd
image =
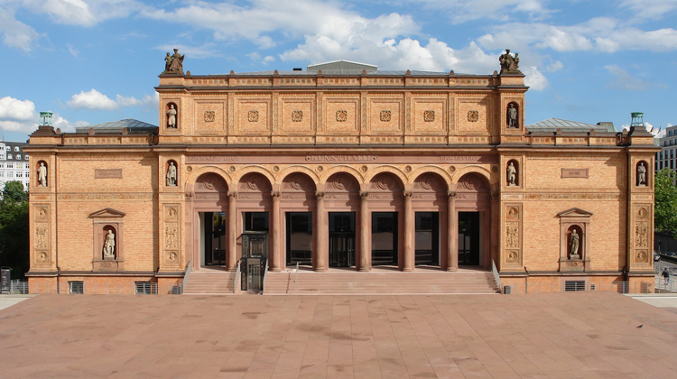
<instances>
[{"instance_id":1,"label":"orange-brown brick museum building with arched entrance and statues","mask_svg":"<svg viewBox=\"0 0 677 379\"><path fill-rule=\"evenodd\" d=\"M159 126L45 118L31 135L30 282L298 265L653 285L653 136L640 120L527 127L516 64L198 76L181 57L155 89Z\"/></svg>"}]
</instances>

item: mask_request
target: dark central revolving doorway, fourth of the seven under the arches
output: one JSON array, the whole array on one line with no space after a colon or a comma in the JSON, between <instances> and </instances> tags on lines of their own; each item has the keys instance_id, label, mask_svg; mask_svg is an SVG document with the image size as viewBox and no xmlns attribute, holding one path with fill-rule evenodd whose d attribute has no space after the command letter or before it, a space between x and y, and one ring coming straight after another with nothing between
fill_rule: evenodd
<instances>
[{"instance_id":1,"label":"dark central revolving doorway, fourth of the seven under the arches","mask_svg":"<svg viewBox=\"0 0 677 379\"><path fill-rule=\"evenodd\" d=\"M329 266L355 265L355 212L329 212Z\"/></svg>"}]
</instances>

